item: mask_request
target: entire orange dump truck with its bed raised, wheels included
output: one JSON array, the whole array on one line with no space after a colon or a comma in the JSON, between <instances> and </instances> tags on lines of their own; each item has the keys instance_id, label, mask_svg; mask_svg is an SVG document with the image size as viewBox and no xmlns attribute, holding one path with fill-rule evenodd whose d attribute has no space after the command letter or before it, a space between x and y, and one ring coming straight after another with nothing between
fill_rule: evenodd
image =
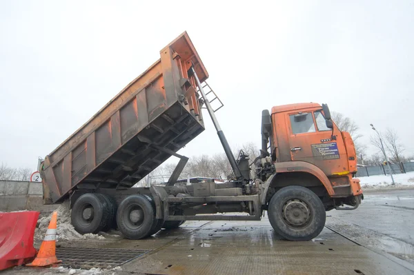
<instances>
[{"instance_id":1,"label":"entire orange dump truck with its bed raised, wheels included","mask_svg":"<svg viewBox=\"0 0 414 275\"><path fill-rule=\"evenodd\" d=\"M358 207L363 194L353 178L355 147L331 121L327 105L264 110L260 156L249 160L240 152L235 159L207 99L210 90L204 92L210 87L206 79L208 72L184 32L46 156L40 169L44 203L70 198L72 225L81 234L118 227L132 239L188 220L260 220L267 210L275 232L304 241L322 231L326 211ZM177 151L204 130L202 106L234 174L226 183L183 185L177 180L188 158ZM132 187L170 156L179 163L167 183ZM248 215L215 215L229 212Z\"/></svg>"}]
</instances>

